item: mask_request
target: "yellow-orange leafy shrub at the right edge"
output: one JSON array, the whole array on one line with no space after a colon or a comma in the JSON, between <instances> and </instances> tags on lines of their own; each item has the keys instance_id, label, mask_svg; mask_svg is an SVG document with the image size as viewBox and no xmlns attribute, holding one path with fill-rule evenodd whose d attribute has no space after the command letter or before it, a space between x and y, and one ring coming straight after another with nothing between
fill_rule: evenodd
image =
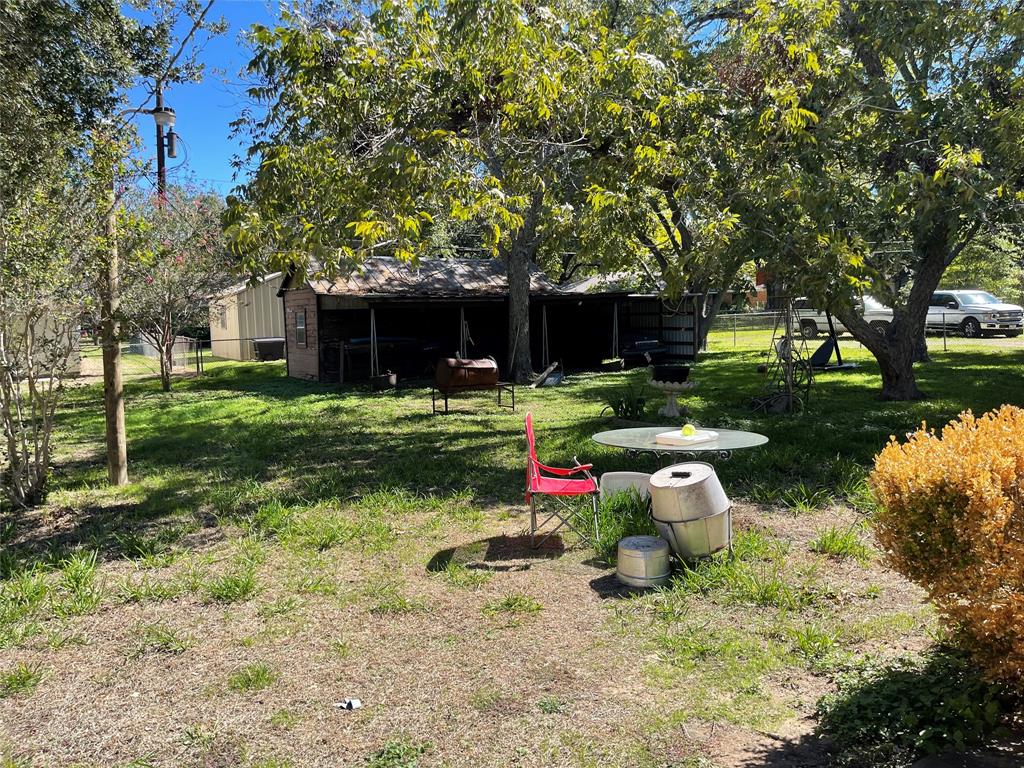
<instances>
[{"instance_id":1,"label":"yellow-orange leafy shrub at the right edge","mask_svg":"<svg viewBox=\"0 0 1024 768\"><path fill-rule=\"evenodd\" d=\"M876 457L874 531L988 673L1024 688L1024 410L961 414Z\"/></svg>"}]
</instances>

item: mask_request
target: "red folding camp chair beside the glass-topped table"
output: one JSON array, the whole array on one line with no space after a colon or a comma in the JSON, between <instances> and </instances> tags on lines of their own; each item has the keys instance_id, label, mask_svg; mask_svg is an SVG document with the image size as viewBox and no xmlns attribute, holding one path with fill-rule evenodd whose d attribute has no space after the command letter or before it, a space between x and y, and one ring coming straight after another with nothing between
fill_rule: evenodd
<instances>
[{"instance_id":1,"label":"red folding camp chair beside the glass-topped table","mask_svg":"<svg viewBox=\"0 0 1024 768\"><path fill-rule=\"evenodd\" d=\"M529 452L526 458L526 501L529 503L529 541L534 548L536 549L548 541L563 525L574 530L577 536L584 541L590 541L590 537L573 524L573 521L579 524L578 520L583 514L583 510L565 501L565 498L581 496L590 497L594 513L594 540L600 542L597 530L597 500L601 492L598 488L597 480L590 473L593 465L581 464L575 457L572 460L575 461L577 465L571 469L560 469L541 464L537 460L532 414L526 414L526 446ZM550 475L554 475L554 477ZM573 475L582 476L574 477ZM539 496L550 496L558 504L558 509L548 515L540 525L537 524L537 497ZM558 520L558 524L549 530L541 541L537 541L537 532L555 519Z\"/></svg>"}]
</instances>

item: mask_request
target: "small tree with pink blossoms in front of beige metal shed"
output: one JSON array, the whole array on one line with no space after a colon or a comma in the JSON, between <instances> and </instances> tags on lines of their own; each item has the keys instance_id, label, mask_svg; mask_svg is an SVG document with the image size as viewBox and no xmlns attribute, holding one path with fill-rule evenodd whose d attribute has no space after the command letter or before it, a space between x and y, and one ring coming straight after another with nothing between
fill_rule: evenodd
<instances>
[{"instance_id":1,"label":"small tree with pink blossoms in front of beige metal shed","mask_svg":"<svg viewBox=\"0 0 1024 768\"><path fill-rule=\"evenodd\" d=\"M181 187L147 199L133 211L142 225L126 266L124 313L160 352L160 383L171 389L174 340L205 322L210 294L230 281L220 198Z\"/></svg>"}]
</instances>

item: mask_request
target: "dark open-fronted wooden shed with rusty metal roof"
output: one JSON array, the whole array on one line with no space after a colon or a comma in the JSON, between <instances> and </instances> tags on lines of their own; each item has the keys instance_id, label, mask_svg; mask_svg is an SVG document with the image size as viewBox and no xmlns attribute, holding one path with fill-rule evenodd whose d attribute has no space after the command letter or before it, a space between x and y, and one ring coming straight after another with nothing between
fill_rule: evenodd
<instances>
[{"instance_id":1,"label":"dark open-fronted wooden shed with rusty metal roof","mask_svg":"<svg viewBox=\"0 0 1024 768\"><path fill-rule=\"evenodd\" d=\"M322 382L372 372L423 376L440 356L508 360L508 282L501 259L368 259L336 280L281 283L288 373ZM530 275L535 367L593 370L632 341L656 339L668 356L694 356L694 313L667 312L659 298L626 288L558 286Z\"/></svg>"}]
</instances>

